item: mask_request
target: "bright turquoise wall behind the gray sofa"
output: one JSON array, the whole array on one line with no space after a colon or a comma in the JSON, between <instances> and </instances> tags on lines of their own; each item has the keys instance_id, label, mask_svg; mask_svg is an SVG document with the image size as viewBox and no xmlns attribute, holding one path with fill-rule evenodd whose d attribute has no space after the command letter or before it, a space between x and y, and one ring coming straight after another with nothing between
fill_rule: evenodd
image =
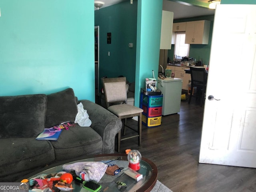
<instances>
[{"instance_id":1,"label":"bright turquoise wall behind the gray sofa","mask_svg":"<svg viewBox=\"0 0 256 192\"><path fill-rule=\"evenodd\" d=\"M0 96L94 98L94 1L1 0Z\"/></svg>"}]
</instances>

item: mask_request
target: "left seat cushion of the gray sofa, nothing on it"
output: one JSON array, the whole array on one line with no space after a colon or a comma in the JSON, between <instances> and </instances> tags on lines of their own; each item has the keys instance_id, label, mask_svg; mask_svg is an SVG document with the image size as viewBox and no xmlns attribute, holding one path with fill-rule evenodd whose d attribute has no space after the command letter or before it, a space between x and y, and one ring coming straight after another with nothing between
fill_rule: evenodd
<instances>
[{"instance_id":1,"label":"left seat cushion of the gray sofa, nothing on it","mask_svg":"<svg viewBox=\"0 0 256 192\"><path fill-rule=\"evenodd\" d=\"M35 168L42 168L55 159L49 141L35 138L3 138L0 151L0 178L23 175ZM10 182L10 180L9 180Z\"/></svg>"}]
</instances>

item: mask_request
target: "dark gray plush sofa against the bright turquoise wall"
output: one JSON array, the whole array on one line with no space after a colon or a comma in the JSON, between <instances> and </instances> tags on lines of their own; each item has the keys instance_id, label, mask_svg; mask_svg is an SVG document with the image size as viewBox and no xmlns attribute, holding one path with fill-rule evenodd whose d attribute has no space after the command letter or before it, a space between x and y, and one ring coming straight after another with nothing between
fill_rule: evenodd
<instances>
[{"instance_id":1,"label":"dark gray plush sofa against the bright turquoise wall","mask_svg":"<svg viewBox=\"0 0 256 192\"><path fill-rule=\"evenodd\" d=\"M92 125L62 130L56 141L36 140L44 128L74 122L82 102ZM122 122L89 100L78 101L72 88L54 94L0 97L0 182L14 182L52 163L114 153Z\"/></svg>"}]
</instances>

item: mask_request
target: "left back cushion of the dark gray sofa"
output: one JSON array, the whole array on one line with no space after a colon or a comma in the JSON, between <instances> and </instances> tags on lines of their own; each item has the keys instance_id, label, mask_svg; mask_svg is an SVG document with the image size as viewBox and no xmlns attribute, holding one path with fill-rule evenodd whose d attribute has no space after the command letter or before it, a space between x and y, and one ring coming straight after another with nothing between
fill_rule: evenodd
<instances>
[{"instance_id":1,"label":"left back cushion of the dark gray sofa","mask_svg":"<svg viewBox=\"0 0 256 192\"><path fill-rule=\"evenodd\" d=\"M44 130L46 95L0 97L0 138L36 137Z\"/></svg>"}]
</instances>

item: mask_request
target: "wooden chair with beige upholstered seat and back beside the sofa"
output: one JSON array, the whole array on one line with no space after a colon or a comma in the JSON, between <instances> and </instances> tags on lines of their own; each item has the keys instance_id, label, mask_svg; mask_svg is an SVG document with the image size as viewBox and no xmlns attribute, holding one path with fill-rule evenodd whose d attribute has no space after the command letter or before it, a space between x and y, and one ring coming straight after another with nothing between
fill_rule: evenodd
<instances>
[{"instance_id":1,"label":"wooden chair with beige upholstered seat and back beside the sofa","mask_svg":"<svg viewBox=\"0 0 256 192\"><path fill-rule=\"evenodd\" d=\"M118 152L120 152L120 142L122 140L138 137L138 145L141 144L141 132L142 132L142 112L141 108L127 104L127 92L126 92L126 78L101 78L104 88L104 94L106 98L107 109L118 116L120 120L124 119L124 132L126 127L134 130L138 134L121 139L121 130L118 132ZM138 116L138 130L126 125L126 119L134 116ZM123 121L122 121L123 122Z\"/></svg>"}]
</instances>

